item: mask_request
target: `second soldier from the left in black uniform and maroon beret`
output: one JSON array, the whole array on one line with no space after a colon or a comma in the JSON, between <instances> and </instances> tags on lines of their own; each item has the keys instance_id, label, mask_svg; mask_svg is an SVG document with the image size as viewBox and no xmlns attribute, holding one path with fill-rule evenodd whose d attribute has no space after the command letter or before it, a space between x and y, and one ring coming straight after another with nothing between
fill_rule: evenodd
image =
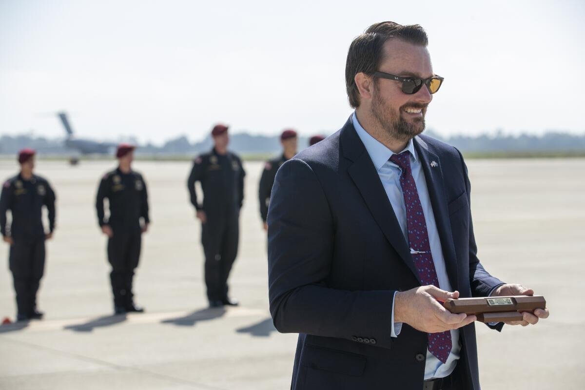
<instances>
[{"instance_id":1,"label":"second soldier from the left in black uniform and maroon beret","mask_svg":"<svg viewBox=\"0 0 585 390\"><path fill-rule=\"evenodd\" d=\"M108 261L112 265L113 305L116 314L144 311L135 305L132 294L134 270L138 267L142 233L148 229L149 207L146 183L131 168L135 147L120 144L116 151L118 168L99 182L95 208L102 232L108 236ZM108 198L109 218L104 215Z\"/></svg>"}]
</instances>

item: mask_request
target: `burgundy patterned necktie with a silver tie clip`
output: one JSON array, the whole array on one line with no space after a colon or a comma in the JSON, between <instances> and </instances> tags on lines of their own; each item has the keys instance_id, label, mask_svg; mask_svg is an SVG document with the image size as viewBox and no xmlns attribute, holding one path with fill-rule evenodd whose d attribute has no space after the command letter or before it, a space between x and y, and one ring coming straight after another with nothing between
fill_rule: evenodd
<instances>
[{"instance_id":1,"label":"burgundy patterned necktie with a silver tie clip","mask_svg":"<svg viewBox=\"0 0 585 390\"><path fill-rule=\"evenodd\" d=\"M418 270L418 276L421 278L422 285L434 285L438 288L439 280L431 254L429 234L426 231L425 215L422 212L421 199L418 198L417 185L410 168L410 154L408 151L393 154L390 161L402 169L400 187L402 187L404 205L406 206L408 243L412 260ZM429 351L445 364L452 345L450 331L428 333L428 339Z\"/></svg>"}]
</instances>

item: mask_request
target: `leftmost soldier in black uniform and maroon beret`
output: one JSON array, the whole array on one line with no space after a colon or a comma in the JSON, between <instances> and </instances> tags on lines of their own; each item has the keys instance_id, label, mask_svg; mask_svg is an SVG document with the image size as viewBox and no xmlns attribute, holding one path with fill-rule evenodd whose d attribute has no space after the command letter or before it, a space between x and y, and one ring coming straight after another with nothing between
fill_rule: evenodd
<instances>
[{"instance_id":1,"label":"leftmost soldier in black uniform and maroon beret","mask_svg":"<svg viewBox=\"0 0 585 390\"><path fill-rule=\"evenodd\" d=\"M41 319L36 309L36 295L44 271L44 241L55 229L55 193L44 178L33 174L35 151L23 149L18 154L20 173L10 178L0 195L0 232L10 244L9 267L16 291L16 320ZM44 232L42 208L49 212L49 233ZM12 223L6 226L6 211Z\"/></svg>"}]
</instances>

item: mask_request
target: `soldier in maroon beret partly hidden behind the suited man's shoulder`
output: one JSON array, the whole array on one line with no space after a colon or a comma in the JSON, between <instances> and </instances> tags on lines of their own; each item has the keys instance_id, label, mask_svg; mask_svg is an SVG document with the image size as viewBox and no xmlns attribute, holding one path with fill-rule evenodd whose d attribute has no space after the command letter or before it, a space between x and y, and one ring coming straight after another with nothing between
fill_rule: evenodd
<instances>
[{"instance_id":1,"label":"soldier in maroon beret partly hidden behind the suited man's shoulder","mask_svg":"<svg viewBox=\"0 0 585 390\"><path fill-rule=\"evenodd\" d=\"M260 201L260 217L262 218L264 230L268 230L266 223L266 216L268 215L268 206L270 204L270 193L274 185L274 178L280 165L283 165L287 160L290 160L297 154L297 132L292 129L284 130L280 134L280 143L283 146L283 154L266 161L264 170L260 177L260 185L258 189L258 196Z\"/></svg>"}]
</instances>

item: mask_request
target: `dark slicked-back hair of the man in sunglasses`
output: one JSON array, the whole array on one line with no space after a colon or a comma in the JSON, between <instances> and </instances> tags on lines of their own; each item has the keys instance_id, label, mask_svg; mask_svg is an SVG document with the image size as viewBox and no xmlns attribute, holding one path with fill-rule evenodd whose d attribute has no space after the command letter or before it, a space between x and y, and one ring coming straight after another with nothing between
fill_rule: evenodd
<instances>
[{"instance_id":1,"label":"dark slicked-back hair of the man in sunglasses","mask_svg":"<svg viewBox=\"0 0 585 390\"><path fill-rule=\"evenodd\" d=\"M345 87L347 98L353 108L360 105L360 92L353 80L362 72L373 75L383 60L382 47L388 39L399 38L405 42L426 46L429 43L425 30L419 25L402 26L394 22L375 23L357 36L347 51L345 63Z\"/></svg>"}]
</instances>

